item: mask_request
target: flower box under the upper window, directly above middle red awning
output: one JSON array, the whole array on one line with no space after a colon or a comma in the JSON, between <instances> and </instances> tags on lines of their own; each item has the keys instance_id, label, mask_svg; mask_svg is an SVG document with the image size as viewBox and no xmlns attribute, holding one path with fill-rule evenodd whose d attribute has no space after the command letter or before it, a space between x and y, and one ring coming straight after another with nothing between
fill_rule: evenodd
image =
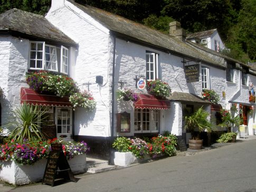
<instances>
[{"instance_id":1,"label":"flower box under the upper window, directly above middle red awning","mask_svg":"<svg viewBox=\"0 0 256 192\"><path fill-rule=\"evenodd\" d=\"M146 88L149 94L157 97L166 98L172 94L172 89L165 82L160 79L150 80L146 84Z\"/></svg>"}]
</instances>

